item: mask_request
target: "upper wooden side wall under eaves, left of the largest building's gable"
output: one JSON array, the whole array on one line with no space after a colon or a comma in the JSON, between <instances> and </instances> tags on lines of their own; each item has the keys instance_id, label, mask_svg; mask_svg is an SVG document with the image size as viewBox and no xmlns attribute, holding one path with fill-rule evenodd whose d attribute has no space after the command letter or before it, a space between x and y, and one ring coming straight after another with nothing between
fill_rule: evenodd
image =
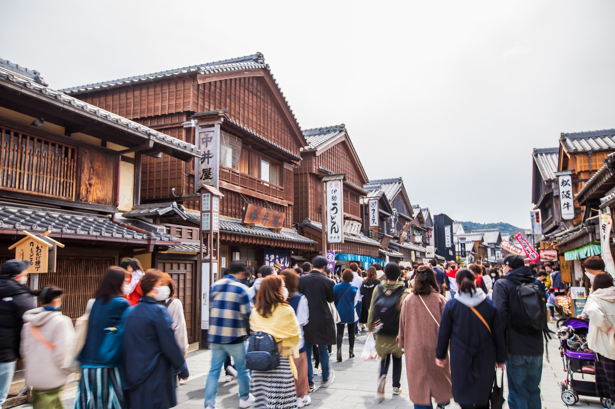
<instances>
[{"instance_id":1,"label":"upper wooden side wall under eaves, left of the largest building's gable","mask_svg":"<svg viewBox=\"0 0 615 409\"><path fill-rule=\"evenodd\" d=\"M80 95L83 101L129 119L193 111L192 84L196 77L186 77L133 88Z\"/></svg>"}]
</instances>

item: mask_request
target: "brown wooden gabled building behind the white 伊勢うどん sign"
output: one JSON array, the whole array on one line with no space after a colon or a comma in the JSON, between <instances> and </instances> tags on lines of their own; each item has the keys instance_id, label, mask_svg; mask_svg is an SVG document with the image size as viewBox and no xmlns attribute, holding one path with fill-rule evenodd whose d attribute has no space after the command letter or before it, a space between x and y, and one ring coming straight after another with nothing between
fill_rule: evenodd
<instances>
[{"instance_id":1,"label":"brown wooden gabled building behind the white \u4f0a\u52e2\u3046\u3069\u3093 sign","mask_svg":"<svg viewBox=\"0 0 615 409\"><path fill-rule=\"evenodd\" d=\"M343 182L344 242L327 243L335 251L336 263L347 266L351 261L369 266L380 262L381 244L362 233L360 198L367 195L363 184L367 175L361 165L344 124L304 130L307 144L301 150L301 165L295 168L295 220L307 238L318 242L314 254L322 252L322 177L345 174ZM386 212L386 208L384 209ZM384 224L386 222L383 221ZM358 227L355 228L355 227ZM386 256L387 254L385 254ZM395 255L391 253L391 256ZM399 257L402 255L399 254ZM384 257L383 257L384 259Z\"/></svg>"}]
</instances>

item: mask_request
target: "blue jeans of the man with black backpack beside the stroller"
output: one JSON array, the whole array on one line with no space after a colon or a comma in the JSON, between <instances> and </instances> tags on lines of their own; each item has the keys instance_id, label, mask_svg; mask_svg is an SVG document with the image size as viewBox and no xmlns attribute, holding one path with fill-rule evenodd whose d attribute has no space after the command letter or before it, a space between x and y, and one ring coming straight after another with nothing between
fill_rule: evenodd
<instances>
[{"instance_id":1,"label":"blue jeans of the man with black backpack beside the stroller","mask_svg":"<svg viewBox=\"0 0 615 409\"><path fill-rule=\"evenodd\" d=\"M541 408L540 380L542 355L510 355L506 360L508 407L510 409Z\"/></svg>"}]
</instances>

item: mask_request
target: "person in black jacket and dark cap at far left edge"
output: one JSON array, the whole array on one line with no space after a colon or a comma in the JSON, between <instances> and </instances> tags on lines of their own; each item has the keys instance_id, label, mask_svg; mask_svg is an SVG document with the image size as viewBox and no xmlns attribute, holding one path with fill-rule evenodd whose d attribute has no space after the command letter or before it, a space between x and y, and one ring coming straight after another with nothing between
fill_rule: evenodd
<instances>
[{"instance_id":1,"label":"person in black jacket and dark cap at far left edge","mask_svg":"<svg viewBox=\"0 0 615 409\"><path fill-rule=\"evenodd\" d=\"M29 262L9 260L0 270L0 407L9 394L20 358L23 313L36 308L25 284L28 282Z\"/></svg>"}]
</instances>

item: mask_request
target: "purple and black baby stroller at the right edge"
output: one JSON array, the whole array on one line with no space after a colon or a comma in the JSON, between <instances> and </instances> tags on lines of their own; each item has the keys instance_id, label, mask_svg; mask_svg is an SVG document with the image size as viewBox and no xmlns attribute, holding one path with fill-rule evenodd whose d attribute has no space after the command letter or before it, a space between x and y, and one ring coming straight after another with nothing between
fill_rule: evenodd
<instances>
[{"instance_id":1,"label":"purple and black baby stroller at the right edge","mask_svg":"<svg viewBox=\"0 0 615 409\"><path fill-rule=\"evenodd\" d=\"M589 322L584 319L571 317L557 320L557 337L566 371L566 380L560 382L561 400L566 405L579 402L579 395L598 397L595 382L583 380L584 375L595 373L596 354L587 347L588 330ZM581 380L574 379L575 373L581 373ZM611 399L601 397L600 403L605 408L614 408Z\"/></svg>"}]
</instances>

